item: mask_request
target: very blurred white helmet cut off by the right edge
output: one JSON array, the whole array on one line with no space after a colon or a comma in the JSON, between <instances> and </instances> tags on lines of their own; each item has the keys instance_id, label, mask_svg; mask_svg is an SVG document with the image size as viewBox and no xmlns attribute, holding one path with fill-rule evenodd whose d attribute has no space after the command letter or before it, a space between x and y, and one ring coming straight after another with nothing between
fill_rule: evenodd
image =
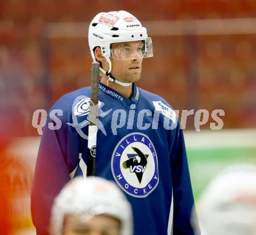
<instances>
[{"instance_id":1,"label":"very blurred white helmet cut off by the right edge","mask_svg":"<svg viewBox=\"0 0 256 235\"><path fill-rule=\"evenodd\" d=\"M198 201L205 235L256 235L256 166L234 165L209 184Z\"/></svg>"}]
</instances>

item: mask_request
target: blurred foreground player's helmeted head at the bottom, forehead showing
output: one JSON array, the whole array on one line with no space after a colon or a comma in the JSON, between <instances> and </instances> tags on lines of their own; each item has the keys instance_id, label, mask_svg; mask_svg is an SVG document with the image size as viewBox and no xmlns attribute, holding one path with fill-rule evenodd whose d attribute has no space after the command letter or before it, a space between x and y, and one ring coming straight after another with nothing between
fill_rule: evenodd
<instances>
[{"instance_id":1,"label":"blurred foreground player's helmeted head at the bottom, forehead showing","mask_svg":"<svg viewBox=\"0 0 256 235\"><path fill-rule=\"evenodd\" d=\"M51 235L131 235L131 206L111 181L79 176L55 198L50 225Z\"/></svg>"}]
</instances>

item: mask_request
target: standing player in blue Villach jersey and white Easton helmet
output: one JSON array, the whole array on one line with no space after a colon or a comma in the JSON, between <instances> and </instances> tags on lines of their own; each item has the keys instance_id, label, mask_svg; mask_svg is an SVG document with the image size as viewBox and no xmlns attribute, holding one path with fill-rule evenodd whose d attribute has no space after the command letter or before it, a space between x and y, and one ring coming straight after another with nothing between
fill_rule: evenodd
<instances>
[{"instance_id":1,"label":"standing player in blue Villach jersey and white Easton helmet","mask_svg":"<svg viewBox=\"0 0 256 235\"><path fill-rule=\"evenodd\" d=\"M126 193L135 235L195 234L179 120L165 99L136 86L143 58L153 56L147 30L128 12L99 13L90 23L88 41L102 75L95 175L115 181ZM61 110L59 116L47 119L31 192L38 234L47 233L52 202L65 183L86 177L88 97L90 87L64 95L52 107L53 113ZM59 121L58 130L49 128Z\"/></svg>"}]
</instances>

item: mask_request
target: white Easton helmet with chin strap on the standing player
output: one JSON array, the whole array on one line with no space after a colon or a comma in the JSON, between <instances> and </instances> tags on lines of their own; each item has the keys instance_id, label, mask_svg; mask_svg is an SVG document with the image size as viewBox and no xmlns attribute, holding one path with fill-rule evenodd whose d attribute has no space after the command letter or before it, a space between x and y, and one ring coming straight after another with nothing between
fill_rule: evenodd
<instances>
[{"instance_id":1,"label":"white Easton helmet with chin strap on the standing player","mask_svg":"<svg viewBox=\"0 0 256 235\"><path fill-rule=\"evenodd\" d=\"M147 35L147 29L141 25L138 19L124 10L113 12L101 12L91 21L88 30L88 42L93 60L95 59L94 48L100 47L102 56L105 56L109 70L106 72L101 68L101 71L108 76L112 82L116 82L121 86L129 86L130 83L122 83L116 81L111 76L111 44L116 42L130 41L144 42L143 58L153 56L152 40Z\"/></svg>"}]
</instances>

